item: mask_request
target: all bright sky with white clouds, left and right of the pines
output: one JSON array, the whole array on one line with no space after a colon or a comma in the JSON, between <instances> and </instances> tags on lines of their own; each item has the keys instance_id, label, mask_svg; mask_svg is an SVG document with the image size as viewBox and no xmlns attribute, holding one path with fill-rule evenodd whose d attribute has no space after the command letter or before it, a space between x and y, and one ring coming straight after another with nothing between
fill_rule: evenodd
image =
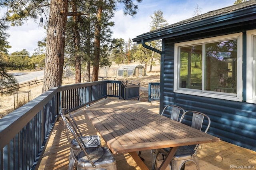
<instances>
[{"instance_id":1,"label":"all bright sky with white clouds, left and right of the pines","mask_svg":"<svg viewBox=\"0 0 256 170\"><path fill-rule=\"evenodd\" d=\"M168 24L174 24L195 16L196 7L200 13L204 14L212 10L218 10L227 6L232 6L236 0L143 0L138 4L138 14L136 16L124 16L122 5L118 4L118 9L112 21L115 26L112 27L112 38L123 38L128 42L129 38L136 38L140 34L150 31L151 16L154 12L161 10L164 19ZM7 39L12 48L8 49L9 54L14 51L26 49L30 55L37 48L37 42L43 40L46 36L46 30L40 27L40 16L35 22L28 20L22 26L10 27L7 31L10 37ZM44 18L46 21L46 18Z\"/></svg>"}]
</instances>

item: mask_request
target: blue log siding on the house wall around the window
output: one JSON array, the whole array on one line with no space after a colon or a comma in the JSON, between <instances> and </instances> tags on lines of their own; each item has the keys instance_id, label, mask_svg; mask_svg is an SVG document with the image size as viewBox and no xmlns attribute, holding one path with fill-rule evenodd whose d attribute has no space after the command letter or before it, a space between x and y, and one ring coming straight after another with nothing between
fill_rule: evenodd
<instances>
[{"instance_id":1,"label":"blue log siding on the house wall around the window","mask_svg":"<svg viewBox=\"0 0 256 170\"><path fill-rule=\"evenodd\" d=\"M256 105L174 93L174 42L163 40L163 44L160 88L164 95L160 97L160 112L165 105L173 104L205 113L212 121L208 133L256 151Z\"/></svg>"}]
</instances>

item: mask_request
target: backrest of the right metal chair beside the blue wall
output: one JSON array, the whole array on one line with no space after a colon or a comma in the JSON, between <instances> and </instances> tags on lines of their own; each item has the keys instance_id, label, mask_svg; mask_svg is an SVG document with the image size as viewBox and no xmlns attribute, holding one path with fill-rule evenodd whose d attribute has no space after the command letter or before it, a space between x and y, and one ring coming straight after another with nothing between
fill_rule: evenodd
<instances>
[{"instance_id":1,"label":"backrest of the right metal chair beside the blue wall","mask_svg":"<svg viewBox=\"0 0 256 170\"><path fill-rule=\"evenodd\" d=\"M191 122L191 127L192 128L196 128L197 130L202 130L202 125L204 122L204 118L207 119L208 124L206 126L206 129L204 130L204 132L206 133L208 131L208 129L210 128L211 125L211 119L210 117L208 117L207 115L205 115L204 113L198 112L198 111L186 111L185 113L183 113L183 115L180 118L180 123L182 122L182 120L184 119L185 115L191 114L192 113L192 122ZM194 147L194 153L192 154L192 156L194 156L194 154L196 154L196 150L198 149L199 144L197 145L193 145Z\"/></svg>"}]
</instances>

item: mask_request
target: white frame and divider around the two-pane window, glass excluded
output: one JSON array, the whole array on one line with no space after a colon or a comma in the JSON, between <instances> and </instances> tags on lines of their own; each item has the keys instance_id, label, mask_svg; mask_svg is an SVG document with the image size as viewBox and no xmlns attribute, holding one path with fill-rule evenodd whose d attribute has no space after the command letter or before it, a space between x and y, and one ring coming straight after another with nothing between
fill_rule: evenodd
<instances>
[{"instance_id":1,"label":"white frame and divider around the two-pane window, glass excluded","mask_svg":"<svg viewBox=\"0 0 256 170\"><path fill-rule=\"evenodd\" d=\"M179 83L179 71L180 71L180 59L179 59L179 47L188 46L188 45L200 45L203 43L210 43L210 42L217 42L217 41L224 41L229 39L237 38L237 89L236 94L221 94L221 93L215 93L213 91L204 91L202 90L194 90L194 89L185 89L185 88L178 88ZM204 50L204 45L203 45ZM204 70L204 51L202 54L202 65ZM204 80L204 72L202 73L202 80ZM204 82L202 82L202 88L204 87ZM203 97L211 97L216 99L226 99L226 100L232 100L232 101L242 101L242 33L237 34L229 34L225 36L218 36L218 37L212 37L212 38L205 38L200 40L193 40L188 42L181 42L181 43L175 43L174 44L174 92L175 93L183 93L188 95L196 95L196 96L203 96Z\"/></svg>"}]
</instances>

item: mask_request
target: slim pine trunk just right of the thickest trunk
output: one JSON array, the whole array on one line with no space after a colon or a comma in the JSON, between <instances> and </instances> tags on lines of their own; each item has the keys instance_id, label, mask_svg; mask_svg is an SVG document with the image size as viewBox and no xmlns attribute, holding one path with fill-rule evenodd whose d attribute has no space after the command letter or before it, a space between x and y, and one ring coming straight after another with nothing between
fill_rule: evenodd
<instances>
[{"instance_id":1,"label":"slim pine trunk just right of the thickest trunk","mask_svg":"<svg viewBox=\"0 0 256 170\"><path fill-rule=\"evenodd\" d=\"M72 10L73 12L77 12L77 0L73 0L72 4ZM80 34L78 31L78 16L73 16L73 22L74 22L74 49L75 49L75 70L76 70L76 81L75 83L81 83L81 55L80 55Z\"/></svg>"}]
</instances>

